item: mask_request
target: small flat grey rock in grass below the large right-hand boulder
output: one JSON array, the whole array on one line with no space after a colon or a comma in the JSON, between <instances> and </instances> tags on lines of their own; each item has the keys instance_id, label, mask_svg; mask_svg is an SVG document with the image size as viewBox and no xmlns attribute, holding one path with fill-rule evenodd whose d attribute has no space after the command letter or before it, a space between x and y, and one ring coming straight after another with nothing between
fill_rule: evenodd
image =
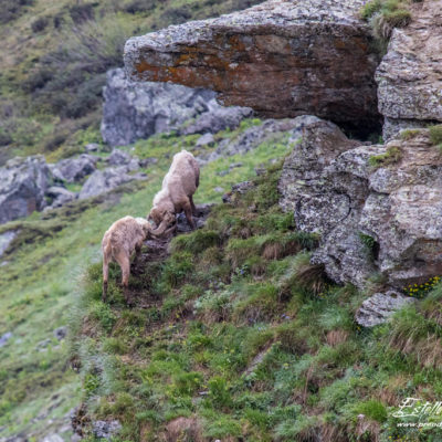
<instances>
[{"instance_id":1,"label":"small flat grey rock in grass below the large right-hand boulder","mask_svg":"<svg viewBox=\"0 0 442 442\"><path fill-rule=\"evenodd\" d=\"M387 293L375 293L364 301L355 315L356 322L362 327L373 327L383 324L398 309L413 304L415 299L402 294L388 291Z\"/></svg>"}]
</instances>

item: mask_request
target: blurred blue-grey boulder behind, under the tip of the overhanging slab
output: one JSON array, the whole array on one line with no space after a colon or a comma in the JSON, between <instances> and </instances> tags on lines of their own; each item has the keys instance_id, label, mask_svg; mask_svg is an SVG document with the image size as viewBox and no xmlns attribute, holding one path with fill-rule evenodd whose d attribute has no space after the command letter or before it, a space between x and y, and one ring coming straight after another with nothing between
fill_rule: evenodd
<instances>
[{"instance_id":1,"label":"blurred blue-grey boulder behind, under the tip of the overhanging slab","mask_svg":"<svg viewBox=\"0 0 442 442\"><path fill-rule=\"evenodd\" d=\"M110 146L177 130L183 134L235 128L251 109L223 108L212 91L167 83L134 83L120 69L108 71L103 91L102 136Z\"/></svg>"}]
</instances>

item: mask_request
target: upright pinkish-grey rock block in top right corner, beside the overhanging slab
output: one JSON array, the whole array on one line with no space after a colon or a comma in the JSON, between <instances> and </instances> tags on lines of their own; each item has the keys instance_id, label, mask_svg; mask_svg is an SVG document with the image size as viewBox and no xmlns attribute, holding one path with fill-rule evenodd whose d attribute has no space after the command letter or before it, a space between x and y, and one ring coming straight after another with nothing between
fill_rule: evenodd
<instances>
[{"instance_id":1,"label":"upright pinkish-grey rock block in top right corner, beside the overhanging slab","mask_svg":"<svg viewBox=\"0 0 442 442\"><path fill-rule=\"evenodd\" d=\"M400 128L442 122L442 0L414 2L410 10L411 23L393 30L376 72L385 140Z\"/></svg>"}]
</instances>

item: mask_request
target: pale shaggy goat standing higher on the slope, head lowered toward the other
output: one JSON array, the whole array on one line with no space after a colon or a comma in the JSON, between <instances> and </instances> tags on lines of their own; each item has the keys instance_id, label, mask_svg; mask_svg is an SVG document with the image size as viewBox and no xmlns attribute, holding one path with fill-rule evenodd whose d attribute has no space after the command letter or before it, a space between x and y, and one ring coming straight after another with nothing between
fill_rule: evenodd
<instances>
[{"instance_id":1,"label":"pale shaggy goat standing higher on the slope, head lowered toward the other","mask_svg":"<svg viewBox=\"0 0 442 442\"><path fill-rule=\"evenodd\" d=\"M166 229L176 223L176 213L185 211L187 221L196 228L192 213L196 214L193 193L200 181L200 168L193 155L181 150L173 156L169 171L162 180L161 190L154 198L149 220L157 224L156 234L164 234Z\"/></svg>"}]
</instances>

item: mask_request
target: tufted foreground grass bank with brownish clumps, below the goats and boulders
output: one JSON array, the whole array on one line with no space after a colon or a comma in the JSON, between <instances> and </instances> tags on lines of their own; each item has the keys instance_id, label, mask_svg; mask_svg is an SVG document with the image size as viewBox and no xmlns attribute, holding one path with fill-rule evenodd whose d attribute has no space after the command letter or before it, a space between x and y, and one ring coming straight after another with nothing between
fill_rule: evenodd
<instances>
[{"instance_id":1,"label":"tufted foreground grass bank with brownish clumps, below the goats and boulders","mask_svg":"<svg viewBox=\"0 0 442 442\"><path fill-rule=\"evenodd\" d=\"M367 294L308 263L316 239L280 211L277 177L274 166L131 278L150 308L126 308L117 285L103 304L99 264L88 269L73 347L88 417L118 419L116 441L169 440L179 418L190 427L170 440L441 440L392 417L407 397L442 392L441 286L361 329L352 317Z\"/></svg>"}]
</instances>

